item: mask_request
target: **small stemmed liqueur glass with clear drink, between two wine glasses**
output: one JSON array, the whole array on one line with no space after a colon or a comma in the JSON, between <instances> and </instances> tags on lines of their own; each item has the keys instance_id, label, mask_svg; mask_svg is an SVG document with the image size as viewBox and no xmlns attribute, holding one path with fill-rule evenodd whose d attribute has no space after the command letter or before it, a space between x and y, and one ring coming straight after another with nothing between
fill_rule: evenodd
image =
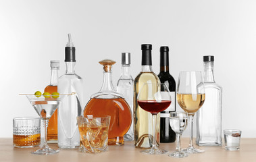
<instances>
[{"instance_id":1,"label":"small stemmed liqueur glass with clear drink, between two wine glasses","mask_svg":"<svg viewBox=\"0 0 256 162\"><path fill-rule=\"evenodd\" d=\"M176 151L170 153L169 157L187 157L187 153L183 153L180 150L180 137L183 131L186 129L186 124L188 121L188 115L185 112L172 112L170 113L170 126L172 130L176 133Z\"/></svg>"}]
</instances>

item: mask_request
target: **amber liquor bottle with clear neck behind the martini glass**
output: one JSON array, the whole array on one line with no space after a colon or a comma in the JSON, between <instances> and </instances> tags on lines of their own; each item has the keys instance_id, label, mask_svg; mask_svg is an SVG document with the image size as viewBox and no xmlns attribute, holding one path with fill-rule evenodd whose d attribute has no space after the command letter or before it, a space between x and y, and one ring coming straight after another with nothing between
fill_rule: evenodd
<instances>
[{"instance_id":1,"label":"amber liquor bottle with clear neck behind the martini glass","mask_svg":"<svg viewBox=\"0 0 256 162\"><path fill-rule=\"evenodd\" d=\"M57 92L57 84L59 80L59 60L51 60L51 82L45 87L45 92L53 93ZM47 127L47 141L49 143L57 143L58 129L57 129L57 110L49 119L49 125Z\"/></svg>"}]
</instances>

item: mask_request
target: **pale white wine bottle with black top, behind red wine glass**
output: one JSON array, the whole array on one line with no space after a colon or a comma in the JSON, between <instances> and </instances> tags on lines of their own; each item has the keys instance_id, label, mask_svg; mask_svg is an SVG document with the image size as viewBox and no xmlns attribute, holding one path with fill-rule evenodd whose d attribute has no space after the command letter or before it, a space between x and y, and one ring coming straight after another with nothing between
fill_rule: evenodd
<instances>
[{"instance_id":1,"label":"pale white wine bottle with black top, behind red wine glass","mask_svg":"<svg viewBox=\"0 0 256 162\"><path fill-rule=\"evenodd\" d=\"M151 50L152 45L141 45L142 49L142 71L134 80L134 145L136 148L151 148L153 144L153 123L151 113L143 110L137 102L138 91L145 83L160 83L159 78L152 71ZM159 144L159 121L157 115L157 144Z\"/></svg>"}]
</instances>

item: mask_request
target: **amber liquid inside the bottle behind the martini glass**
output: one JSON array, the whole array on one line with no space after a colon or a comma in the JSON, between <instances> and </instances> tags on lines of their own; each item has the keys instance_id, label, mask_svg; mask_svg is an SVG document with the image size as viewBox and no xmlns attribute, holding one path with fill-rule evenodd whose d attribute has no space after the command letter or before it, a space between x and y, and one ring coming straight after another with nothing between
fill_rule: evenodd
<instances>
[{"instance_id":1,"label":"amber liquid inside the bottle behind the martini glass","mask_svg":"<svg viewBox=\"0 0 256 162\"><path fill-rule=\"evenodd\" d=\"M45 92L53 93L57 92L57 86L47 86ZM57 109L49 119L49 125L47 128L47 140L58 140L58 124L57 124Z\"/></svg>"}]
</instances>

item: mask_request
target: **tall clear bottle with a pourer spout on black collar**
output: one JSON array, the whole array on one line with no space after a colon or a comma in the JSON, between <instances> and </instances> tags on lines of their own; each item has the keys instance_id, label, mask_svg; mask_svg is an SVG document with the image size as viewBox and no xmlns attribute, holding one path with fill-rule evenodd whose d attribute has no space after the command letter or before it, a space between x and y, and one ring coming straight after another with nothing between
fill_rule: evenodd
<instances>
[{"instance_id":1,"label":"tall clear bottle with a pourer spout on black collar","mask_svg":"<svg viewBox=\"0 0 256 162\"><path fill-rule=\"evenodd\" d=\"M76 117L82 115L83 86L82 78L75 73L76 49L68 34L65 48L66 74L59 77L58 92L75 95L66 97L58 109L58 145L59 148L76 148L80 145L80 136Z\"/></svg>"}]
</instances>

